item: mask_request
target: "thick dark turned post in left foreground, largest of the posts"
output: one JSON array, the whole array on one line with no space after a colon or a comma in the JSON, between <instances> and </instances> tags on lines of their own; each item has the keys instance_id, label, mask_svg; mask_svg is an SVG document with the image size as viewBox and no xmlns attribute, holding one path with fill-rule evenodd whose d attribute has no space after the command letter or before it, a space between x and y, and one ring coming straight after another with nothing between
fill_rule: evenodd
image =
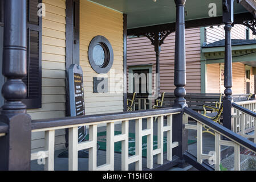
<instances>
[{"instance_id":1,"label":"thick dark turned post in left foreground, largest of the posts","mask_svg":"<svg viewBox=\"0 0 256 182\"><path fill-rule=\"evenodd\" d=\"M9 131L0 137L0 170L30 170L31 118L22 103L27 94L22 81L27 74L26 0L5 1L2 73L6 82L0 121Z\"/></svg>"}]
</instances>

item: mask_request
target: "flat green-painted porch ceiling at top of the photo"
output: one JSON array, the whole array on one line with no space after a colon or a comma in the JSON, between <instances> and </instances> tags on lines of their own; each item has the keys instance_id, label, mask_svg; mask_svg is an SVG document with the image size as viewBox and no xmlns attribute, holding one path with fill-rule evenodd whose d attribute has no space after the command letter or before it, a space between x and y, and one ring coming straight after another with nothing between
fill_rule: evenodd
<instances>
[{"instance_id":1,"label":"flat green-painted porch ceiling at top of the photo","mask_svg":"<svg viewBox=\"0 0 256 182\"><path fill-rule=\"evenodd\" d=\"M127 14L129 28L173 23L176 19L176 6L173 0L87 0ZM186 0L185 20L210 18L208 7L216 3L217 16L222 16L222 0ZM248 12L241 4L234 2L234 14Z\"/></svg>"}]
</instances>

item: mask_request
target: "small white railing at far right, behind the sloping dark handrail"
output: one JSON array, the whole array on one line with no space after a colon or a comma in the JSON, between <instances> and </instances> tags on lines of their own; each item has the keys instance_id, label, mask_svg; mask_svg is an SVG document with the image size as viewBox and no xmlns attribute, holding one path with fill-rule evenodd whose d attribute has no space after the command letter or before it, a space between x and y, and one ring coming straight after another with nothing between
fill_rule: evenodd
<instances>
[{"instance_id":1,"label":"small white railing at far right, behind the sloping dark handrail","mask_svg":"<svg viewBox=\"0 0 256 182\"><path fill-rule=\"evenodd\" d=\"M254 113L256 111L256 100L235 102L235 104L245 107L246 109L253 111ZM255 134L254 135L246 134L251 131L254 131L255 118L249 114L242 112L239 109L234 108L234 107L233 107L232 118L233 118L233 131L235 133L240 134L242 137L254 138L254 141L256 143Z\"/></svg>"}]
</instances>

